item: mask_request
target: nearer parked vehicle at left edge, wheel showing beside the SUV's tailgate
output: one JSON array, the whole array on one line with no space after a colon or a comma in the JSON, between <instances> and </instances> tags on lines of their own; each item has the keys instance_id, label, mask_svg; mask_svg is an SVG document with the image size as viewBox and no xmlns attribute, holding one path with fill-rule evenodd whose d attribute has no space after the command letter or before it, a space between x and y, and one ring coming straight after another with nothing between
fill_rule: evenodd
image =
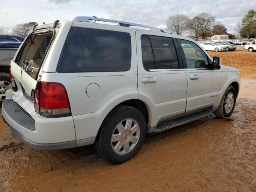
<instances>
[{"instance_id":1,"label":"nearer parked vehicle at left edge, wheel showing beside the SUV's tailgate","mask_svg":"<svg viewBox=\"0 0 256 192\"><path fill-rule=\"evenodd\" d=\"M0 42L0 106L6 97L6 90L11 89L9 76L10 63L21 42Z\"/></svg>"}]
</instances>

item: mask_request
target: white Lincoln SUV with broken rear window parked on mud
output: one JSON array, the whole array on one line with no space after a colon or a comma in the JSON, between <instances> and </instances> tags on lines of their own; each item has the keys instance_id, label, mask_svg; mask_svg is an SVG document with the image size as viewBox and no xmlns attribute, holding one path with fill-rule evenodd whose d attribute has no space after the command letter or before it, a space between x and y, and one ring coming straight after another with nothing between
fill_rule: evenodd
<instances>
[{"instance_id":1,"label":"white Lincoln SUV with broken rear window parked on mud","mask_svg":"<svg viewBox=\"0 0 256 192\"><path fill-rule=\"evenodd\" d=\"M240 73L194 40L164 30L79 16L37 26L11 62L2 116L39 150L94 144L118 164L146 133L232 114Z\"/></svg>"}]
</instances>

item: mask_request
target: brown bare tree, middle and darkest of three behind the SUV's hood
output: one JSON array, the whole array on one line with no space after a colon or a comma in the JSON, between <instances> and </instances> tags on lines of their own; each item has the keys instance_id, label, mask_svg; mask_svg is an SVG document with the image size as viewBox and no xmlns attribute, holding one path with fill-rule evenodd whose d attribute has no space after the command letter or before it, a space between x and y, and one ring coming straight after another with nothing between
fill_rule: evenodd
<instances>
[{"instance_id":1,"label":"brown bare tree, middle and darkest of three behind the SUV's hood","mask_svg":"<svg viewBox=\"0 0 256 192\"><path fill-rule=\"evenodd\" d=\"M188 28L197 38L199 35L205 38L211 34L214 22L215 18L212 14L201 13L188 21Z\"/></svg>"}]
</instances>

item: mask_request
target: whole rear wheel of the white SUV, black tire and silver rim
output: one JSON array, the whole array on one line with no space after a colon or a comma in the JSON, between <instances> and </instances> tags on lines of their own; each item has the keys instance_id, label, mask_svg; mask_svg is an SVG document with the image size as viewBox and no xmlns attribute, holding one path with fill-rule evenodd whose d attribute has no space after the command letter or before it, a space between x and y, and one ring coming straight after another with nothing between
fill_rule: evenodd
<instances>
[{"instance_id":1,"label":"whole rear wheel of the white SUV, black tire and silver rim","mask_svg":"<svg viewBox=\"0 0 256 192\"><path fill-rule=\"evenodd\" d=\"M105 118L94 142L100 157L112 164L133 158L146 137L146 121L142 113L130 106L118 106Z\"/></svg>"}]
</instances>

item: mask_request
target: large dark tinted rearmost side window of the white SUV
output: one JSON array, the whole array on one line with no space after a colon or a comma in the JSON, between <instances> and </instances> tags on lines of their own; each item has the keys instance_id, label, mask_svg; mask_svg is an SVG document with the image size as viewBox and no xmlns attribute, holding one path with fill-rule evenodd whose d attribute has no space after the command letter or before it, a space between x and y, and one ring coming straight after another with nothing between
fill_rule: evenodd
<instances>
[{"instance_id":1,"label":"large dark tinted rearmost side window of the white SUV","mask_svg":"<svg viewBox=\"0 0 256 192\"><path fill-rule=\"evenodd\" d=\"M57 72L116 72L131 67L131 36L126 32L72 27Z\"/></svg>"}]
</instances>

